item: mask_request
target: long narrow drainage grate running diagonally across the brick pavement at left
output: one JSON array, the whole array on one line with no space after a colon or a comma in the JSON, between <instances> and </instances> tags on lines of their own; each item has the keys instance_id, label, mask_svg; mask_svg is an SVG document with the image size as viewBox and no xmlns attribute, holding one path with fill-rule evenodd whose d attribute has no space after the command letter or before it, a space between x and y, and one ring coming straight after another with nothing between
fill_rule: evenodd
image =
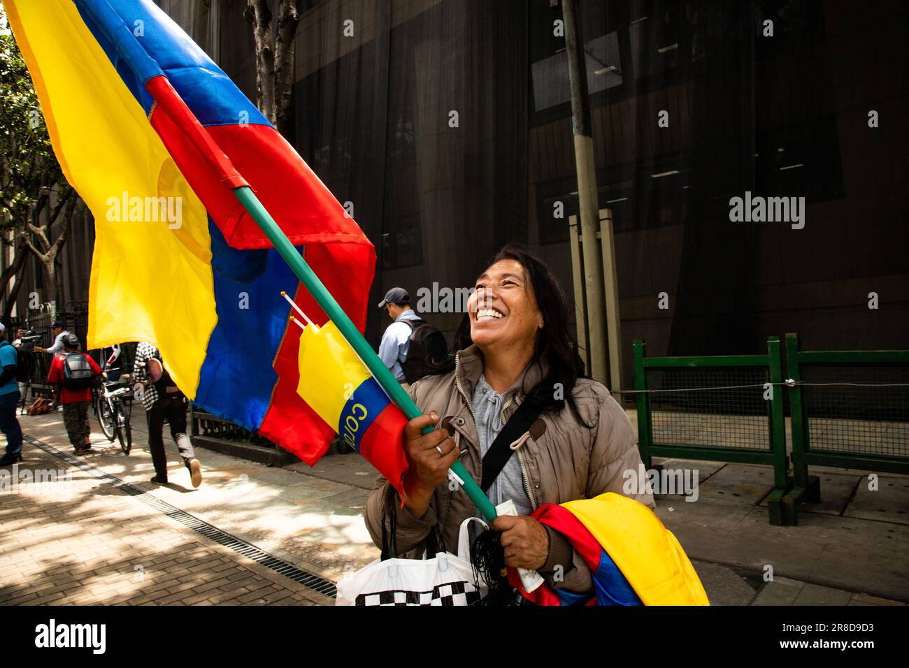
<instances>
[{"instance_id":1,"label":"long narrow drainage grate running diagonally across the brick pavement at left","mask_svg":"<svg viewBox=\"0 0 909 668\"><path fill-rule=\"evenodd\" d=\"M303 584L305 587L308 587L315 592L323 593L325 596L329 596L331 598L335 598L337 595L335 583L333 583L331 580L326 580L324 577L316 575L315 573L309 573L299 566L295 566L293 563L288 563L282 559L278 559L274 555L260 550L252 543L247 543L235 536L232 536L230 533L225 533L221 531L221 529L218 529L216 526L203 522L198 517L195 517L195 515L186 513L185 511L180 510L170 503L162 501L152 494L145 493L143 490L139 489L133 484L125 483L124 481L116 478L111 474L106 474L101 469L96 468L92 464L87 464L81 459L77 459L72 454L57 450L53 445L45 444L42 441L39 441L38 439L25 434L23 434L23 439L28 443L34 445L39 450L43 450L47 454L53 454L55 457L62 459L66 464L70 464L71 466L75 466L75 468L81 469L88 474L92 474L104 483L111 484L116 489L122 491L124 494L135 496L135 498L139 501L145 503L148 506L151 506L157 512L165 514L171 519L176 520L184 526L192 529L195 531L195 533L204 535L205 538L208 538L209 540L214 541L220 545L224 545L225 547L233 550L235 553L243 554L247 559L252 559L255 563L265 566L265 568L275 571L275 573L280 573L285 577L290 578L295 583Z\"/></svg>"}]
</instances>

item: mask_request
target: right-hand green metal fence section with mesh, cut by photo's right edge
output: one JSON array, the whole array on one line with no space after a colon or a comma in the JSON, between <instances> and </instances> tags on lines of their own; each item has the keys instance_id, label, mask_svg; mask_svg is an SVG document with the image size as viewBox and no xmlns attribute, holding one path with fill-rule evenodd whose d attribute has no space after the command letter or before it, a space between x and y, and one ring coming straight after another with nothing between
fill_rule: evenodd
<instances>
[{"instance_id":1,"label":"right-hand green metal fence section with mesh, cut by photo's right edge","mask_svg":"<svg viewBox=\"0 0 909 668\"><path fill-rule=\"evenodd\" d=\"M820 501L808 466L909 474L909 351L800 351L786 334L794 488L784 521Z\"/></svg>"}]
</instances>

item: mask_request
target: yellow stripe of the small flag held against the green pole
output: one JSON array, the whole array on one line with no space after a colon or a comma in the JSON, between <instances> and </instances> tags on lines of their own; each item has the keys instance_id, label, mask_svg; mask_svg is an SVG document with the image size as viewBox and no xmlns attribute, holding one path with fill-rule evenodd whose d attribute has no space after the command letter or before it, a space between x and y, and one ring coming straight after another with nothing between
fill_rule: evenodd
<instances>
[{"instance_id":1,"label":"yellow stripe of the small flag held against the green pole","mask_svg":"<svg viewBox=\"0 0 909 668\"><path fill-rule=\"evenodd\" d=\"M298 359L297 394L337 431L341 411L369 371L333 323L306 325Z\"/></svg>"}]
</instances>

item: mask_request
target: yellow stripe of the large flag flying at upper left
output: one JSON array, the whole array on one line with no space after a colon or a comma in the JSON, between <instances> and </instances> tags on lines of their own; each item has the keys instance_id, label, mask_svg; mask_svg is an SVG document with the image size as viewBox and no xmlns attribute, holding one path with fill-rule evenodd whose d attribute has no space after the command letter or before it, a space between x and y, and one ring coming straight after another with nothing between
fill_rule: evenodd
<instances>
[{"instance_id":1,"label":"yellow stripe of the large flag flying at upper left","mask_svg":"<svg viewBox=\"0 0 909 668\"><path fill-rule=\"evenodd\" d=\"M157 344L193 398L217 322L205 208L72 0L4 5L57 159L95 216L87 345ZM159 197L178 220L149 220Z\"/></svg>"}]
</instances>

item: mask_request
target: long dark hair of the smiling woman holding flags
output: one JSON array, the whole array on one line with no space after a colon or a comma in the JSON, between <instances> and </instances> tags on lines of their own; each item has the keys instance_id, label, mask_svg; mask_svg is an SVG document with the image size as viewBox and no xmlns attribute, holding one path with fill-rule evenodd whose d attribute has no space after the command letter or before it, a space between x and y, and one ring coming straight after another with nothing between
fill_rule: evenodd
<instances>
[{"instance_id":1,"label":"long dark hair of the smiling woman holding flags","mask_svg":"<svg viewBox=\"0 0 909 668\"><path fill-rule=\"evenodd\" d=\"M539 364L541 369L545 369L546 375L535 388L524 388L524 392L530 393L526 401L534 402L541 412L561 411L567 401L577 421L585 424L571 396L577 379L584 377L584 363L577 353L574 337L568 330L568 300L562 285L559 284L552 269L532 254L524 244L505 245L489 265L492 266L502 260L514 260L524 267L530 284L534 286L536 305L543 314L544 326L536 334L531 364ZM444 374L454 369L454 354L472 343L470 316L464 314L464 319L454 333L452 355L434 373Z\"/></svg>"}]
</instances>

